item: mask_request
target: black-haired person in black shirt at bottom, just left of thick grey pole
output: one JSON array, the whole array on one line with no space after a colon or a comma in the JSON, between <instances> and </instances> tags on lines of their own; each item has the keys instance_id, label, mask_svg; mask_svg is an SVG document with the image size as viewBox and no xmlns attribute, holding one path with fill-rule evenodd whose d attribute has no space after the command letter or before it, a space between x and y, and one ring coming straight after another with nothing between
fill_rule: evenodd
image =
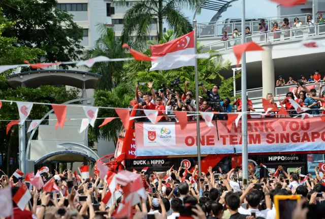
<instances>
[{"instance_id":1,"label":"black-haired person in black shirt at bottom, just left of thick grey pole","mask_svg":"<svg viewBox=\"0 0 325 219\"><path fill-rule=\"evenodd\" d=\"M225 195L225 205L229 209L231 216L230 219L254 219L254 216L244 215L238 213L240 207L239 195L233 192L229 192Z\"/></svg>"}]
</instances>

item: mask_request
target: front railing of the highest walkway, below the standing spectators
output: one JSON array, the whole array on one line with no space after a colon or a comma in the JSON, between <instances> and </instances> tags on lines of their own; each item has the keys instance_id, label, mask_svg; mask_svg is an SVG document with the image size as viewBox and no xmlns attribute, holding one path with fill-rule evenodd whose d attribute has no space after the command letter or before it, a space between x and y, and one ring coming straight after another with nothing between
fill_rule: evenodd
<instances>
[{"instance_id":1,"label":"front railing of the highest walkway, below the standing spectators","mask_svg":"<svg viewBox=\"0 0 325 219\"><path fill-rule=\"evenodd\" d=\"M276 32L263 32L255 33L246 36L246 42L254 41L255 43L266 43L266 42L276 42L288 39L299 39L303 37L318 36L325 34L325 24L312 24L303 25L300 27L291 27L290 29L280 29ZM216 42L204 45L204 48L209 48L210 50L227 50L232 49L233 46L241 44L241 37L236 39L231 39L227 41L221 41L219 39Z\"/></svg>"}]
</instances>

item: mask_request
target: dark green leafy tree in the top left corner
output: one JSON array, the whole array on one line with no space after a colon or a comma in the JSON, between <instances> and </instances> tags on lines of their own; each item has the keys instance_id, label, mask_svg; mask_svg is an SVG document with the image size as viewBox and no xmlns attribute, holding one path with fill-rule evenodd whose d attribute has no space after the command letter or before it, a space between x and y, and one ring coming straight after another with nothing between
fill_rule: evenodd
<instances>
[{"instance_id":1,"label":"dark green leafy tree in the top left corner","mask_svg":"<svg viewBox=\"0 0 325 219\"><path fill-rule=\"evenodd\" d=\"M14 46L45 51L47 62L76 60L82 54L82 29L56 5L56 0L0 1L4 17L14 24L3 36L16 39Z\"/></svg>"}]
</instances>

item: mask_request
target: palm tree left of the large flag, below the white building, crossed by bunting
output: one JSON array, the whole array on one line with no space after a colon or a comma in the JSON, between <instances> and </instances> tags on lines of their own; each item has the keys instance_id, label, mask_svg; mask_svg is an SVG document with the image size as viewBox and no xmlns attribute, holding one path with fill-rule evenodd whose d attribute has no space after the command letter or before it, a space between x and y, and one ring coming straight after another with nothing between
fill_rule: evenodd
<instances>
[{"instance_id":1,"label":"palm tree left of the large flag, below the white building, crossed by bunting","mask_svg":"<svg viewBox=\"0 0 325 219\"><path fill-rule=\"evenodd\" d=\"M94 48L87 51L85 58L93 58L96 56L106 56L109 58L125 58L128 54L125 53L125 49L122 48L122 43L115 39L114 30L107 27L105 24L99 24L99 30L101 37L96 40ZM100 85L98 89L109 90L114 86L113 78L118 80L119 71L123 69L123 61L106 61L95 63L90 71L96 74L102 75ZM115 77L116 76L116 77Z\"/></svg>"}]
</instances>

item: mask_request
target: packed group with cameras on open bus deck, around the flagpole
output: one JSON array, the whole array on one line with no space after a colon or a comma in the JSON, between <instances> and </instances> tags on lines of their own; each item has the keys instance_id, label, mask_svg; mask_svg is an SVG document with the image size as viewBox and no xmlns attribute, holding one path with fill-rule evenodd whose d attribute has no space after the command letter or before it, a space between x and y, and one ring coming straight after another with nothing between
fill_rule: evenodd
<instances>
[{"instance_id":1,"label":"packed group with cameras on open bus deck, around the flagpole","mask_svg":"<svg viewBox=\"0 0 325 219\"><path fill-rule=\"evenodd\" d=\"M150 109L157 110L159 115L173 115L174 111L187 111L195 112L197 105L196 101L193 99L193 92L187 89L189 81L185 81L184 91L163 88L159 90L153 89L153 84L148 83L150 89L149 92L143 92L139 90L139 85L136 86L136 99L135 108L137 109ZM206 93L206 97L199 96L199 111L200 112L223 112L230 113L233 111L233 106L237 107L237 112L241 112L242 101L241 98L236 99L235 102L231 103L229 98L220 98L218 93L219 85L214 84L212 90L208 90L203 84L200 84L203 92ZM252 102L247 99L248 110L255 111ZM143 111L138 111L138 115L144 114ZM250 117L250 115L248 115ZM192 116L188 116L191 120ZM227 119L226 114L219 114L218 119ZM166 116L161 118L161 120L175 120L171 116Z\"/></svg>"}]
</instances>

